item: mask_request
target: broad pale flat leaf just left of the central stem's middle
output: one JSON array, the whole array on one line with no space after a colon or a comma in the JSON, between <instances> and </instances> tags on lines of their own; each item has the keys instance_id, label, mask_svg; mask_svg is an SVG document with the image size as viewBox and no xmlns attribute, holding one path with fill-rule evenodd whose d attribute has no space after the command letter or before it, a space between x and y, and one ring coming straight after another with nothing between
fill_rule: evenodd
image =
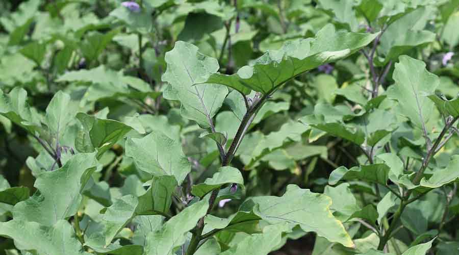
<instances>
[{"instance_id":1,"label":"broad pale flat leaf just left of the central stem's middle","mask_svg":"<svg viewBox=\"0 0 459 255\"><path fill-rule=\"evenodd\" d=\"M154 176L172 175L181 184L190 172L191 164L182 151L181 142L161 132L127 139L125 146L125 155L132 158L140 170Z\"/></svg>"}]
</instances>

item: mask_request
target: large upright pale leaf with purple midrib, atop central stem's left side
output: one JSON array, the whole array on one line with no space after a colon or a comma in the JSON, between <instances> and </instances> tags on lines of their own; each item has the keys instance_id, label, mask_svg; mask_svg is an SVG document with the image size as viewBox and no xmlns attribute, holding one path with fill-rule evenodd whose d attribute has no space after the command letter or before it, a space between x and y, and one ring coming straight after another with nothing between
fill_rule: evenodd
<instances>
[{"instance_id":1,"label":"large upright pale leaf with purple midrib, atop central stem's left side","mask_svg":"<svg viewBox=\"0 0 459 255\"><path fill-rule=\"evenodd\" d=\"M167 93L164 92L164 97L180 100L181 114L185 118L192 119L201 126L210 126L212 118L228 94L228 89L215 84L195 84L205 82L210 74L217 72L217 60L202 55L193 44L178 41L166 53L165 61L167 69L162 81L169 83L169 89Z\"/></svg>"}]
</instances>

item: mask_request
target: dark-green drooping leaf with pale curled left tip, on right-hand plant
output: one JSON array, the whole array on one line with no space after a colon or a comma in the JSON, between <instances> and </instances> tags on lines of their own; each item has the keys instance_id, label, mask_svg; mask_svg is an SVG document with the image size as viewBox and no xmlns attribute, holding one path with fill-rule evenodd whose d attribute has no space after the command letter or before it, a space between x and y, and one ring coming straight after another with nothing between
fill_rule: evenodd
<instances>
[{"instance_id":1,"label":"dark-green drooping leaf with pale curled left tip, on right-hand plant","mask_svg":"<svg viewBox=\"0 0 459 255\"><path fill-rule=\"evenodd\" d=\"M333 170L328 177L328 184L335 185L341 180L362 180L367 182L386 185L389 179L389 167L385 164L362 165L354 166L347 169L345 166L340 166Z\"/></svg>"}]
</instances>

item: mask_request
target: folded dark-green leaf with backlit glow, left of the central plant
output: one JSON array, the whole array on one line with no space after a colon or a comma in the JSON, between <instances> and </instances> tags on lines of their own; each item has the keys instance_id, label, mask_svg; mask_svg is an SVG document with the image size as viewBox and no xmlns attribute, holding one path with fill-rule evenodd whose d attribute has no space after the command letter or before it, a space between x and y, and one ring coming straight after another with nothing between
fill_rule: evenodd
<instances>
[{"instance_id":1,"label":"folded dark-green leaf with backlit glow, left of the central plant","mask_svg":"<svg viewBox=\"0 0 459 255\"><path fill-rule=\"evenodd\" d=\"M77 119L80 120L82 129L75 140L75 146L82 152L97 150L98 158L132 130L131 126L122 122L100 119L86 113L78 113Z\"/></svg>"}]
</instances>

